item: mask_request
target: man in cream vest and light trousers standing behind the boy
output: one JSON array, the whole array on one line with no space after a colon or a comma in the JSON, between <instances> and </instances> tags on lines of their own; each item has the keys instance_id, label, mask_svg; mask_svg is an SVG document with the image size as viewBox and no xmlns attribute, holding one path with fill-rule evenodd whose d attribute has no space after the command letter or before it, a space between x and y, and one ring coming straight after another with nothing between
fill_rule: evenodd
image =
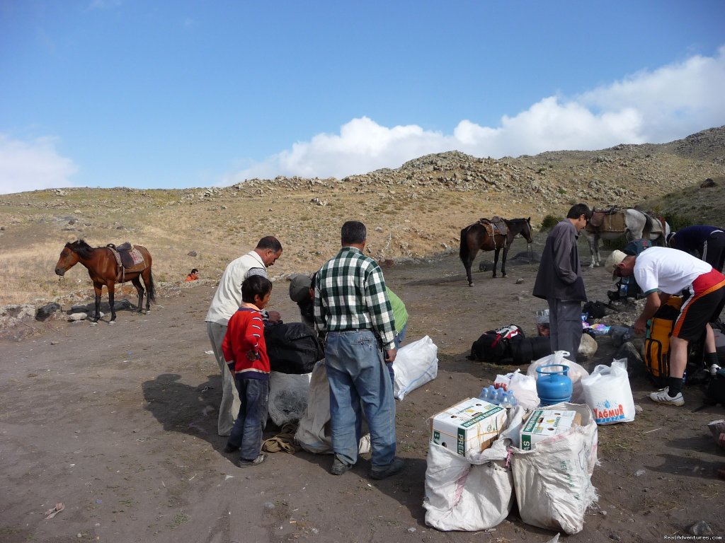
<instances>
[{"instance_id":1,"label":"man in cream vest and light trousers standing behind the boy","mask_svg":"<svg viewBox=\"0 0 725 543\"><path fill-rule=\"evenodd\" d=\"M227 323L241 305L241 283L252 275L267 277L268 266L273 266L282 256L282 244L276 237L262 237L254 251L231 261L214 293L212 303L204 321L207 322L207 334L212 342L214 357L222 374L222 403L219 406L218 433L228 436L239 413L239 395L234 386L234 378L229 371L222 353L222 342L226 334ZM279 320L279 313L270 311L270 321Z\"/></svg>"}]
</instances>

